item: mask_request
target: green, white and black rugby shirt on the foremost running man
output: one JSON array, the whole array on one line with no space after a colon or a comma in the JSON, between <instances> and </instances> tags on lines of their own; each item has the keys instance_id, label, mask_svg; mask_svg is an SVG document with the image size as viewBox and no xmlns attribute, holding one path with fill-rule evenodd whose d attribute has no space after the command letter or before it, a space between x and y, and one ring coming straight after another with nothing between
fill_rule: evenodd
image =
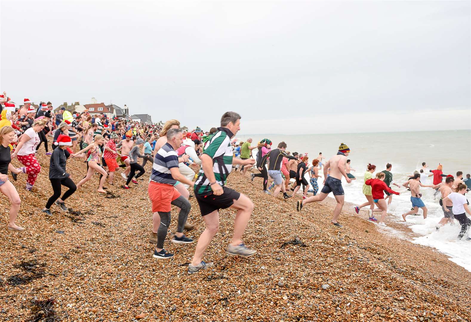
<instances>
[{"instance_id":1,"label":"green, white and black rugby shirt on the foremost running man","mask_svg":"<svg viewBox=\"0 0 471 322\"><path fill-rule=\"evenodd\" d=\"M218 132L204 145L203 154L207 154L212 158L212 171L217 183L221 186L224 186L227 176L232 170L231 137L233 136L234 134L229 129L220 127ZM195 193L201 195L211 194L212 190L209 184L209 179L204 174L203 167L201 167L195 182Z\"/></svg>"}]
</instances>

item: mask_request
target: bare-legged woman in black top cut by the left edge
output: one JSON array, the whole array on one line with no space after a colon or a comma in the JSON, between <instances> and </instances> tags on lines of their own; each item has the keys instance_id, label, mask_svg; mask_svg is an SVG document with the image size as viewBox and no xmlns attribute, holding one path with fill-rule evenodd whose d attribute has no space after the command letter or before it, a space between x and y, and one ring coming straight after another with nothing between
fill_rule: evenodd
<instances>
[{"instance_id":1,"label":"bare-legged woman in black top cut by the left edge","mask_svg":"<svg viewBox=\"0 0 471 322\"><path fill-rule=\"evenodd\" d=\"M11 126L4 126L0 129L0 192L6 195L11 202L7 230L9 232L22 232L24 228L15 224L16 216L20 209L20 196L15 186L8 180L8 170L10 170L15 177L16 174L21 173L21 170L15 169L10 163L10 143L12 143L14 139L15 130Z\"/></svg>"}]
</instances>

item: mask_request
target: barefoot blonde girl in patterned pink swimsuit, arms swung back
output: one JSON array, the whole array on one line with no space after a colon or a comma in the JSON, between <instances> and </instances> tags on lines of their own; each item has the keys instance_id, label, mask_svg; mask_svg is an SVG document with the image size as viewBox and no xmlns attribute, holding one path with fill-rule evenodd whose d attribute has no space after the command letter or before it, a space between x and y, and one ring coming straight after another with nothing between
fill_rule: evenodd
<instances>
[{"instance_id":1,"label":"barefoot blonde girl in patterned pink swimsuit, arms swung back","mask_svg":"<svg viewBox=\"0 0 471 322\"><path fill-rule=\"evenodd\" d=\"M105 139L101 135L96 135L93 143L85 147L84 149L81 149L77 153L73 153L72 156L75 157L84 157L86 156L86 152L90 151L89 157L87 158L87 162L89 165L89 168L87 170L87 176L85 176L83 179L80 180L80 182L77 185L77 189L81 187L85 182L89 181L90 178L93 176L93 173L97 171L99 174L101 174L103 177L100 178L100 185L98 186L98 192L99 193L106 193L106 191L103 189L103 185L105 184L106 177L108 174L106 173L105 169L100 167L98 163L100 163L101 160L101 150L100 150L100 145L103 145Z\"/></svg>"}]
</instances>

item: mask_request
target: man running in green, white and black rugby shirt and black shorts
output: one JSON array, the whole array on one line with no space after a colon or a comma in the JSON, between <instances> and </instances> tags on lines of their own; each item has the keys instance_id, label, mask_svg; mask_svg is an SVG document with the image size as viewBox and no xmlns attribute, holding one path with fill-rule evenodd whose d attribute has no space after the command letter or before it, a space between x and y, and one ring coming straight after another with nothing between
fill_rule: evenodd
<instances>
[{"instance_id":1,"label":"man running in green, white and black rugby shirt and black shorts","mask_svg":"<svg viewBox=\"0 0 471 322\"><path fill-rule=\"evenodd\" d=\"M242 234L252 215L253 202L242 193L226 186L233 164L253 165L255 160L233 158L231 138L240 129L240 115L226 112L221 118L221 127L204 145L200 159L202 167L195 182L195 197L198 201L206 228L198 239L195 256L188 265L188 273L196 273L212 266L201 260L204 251L219 230L219 209L237 209L234 222L234 237L227 247L227 254L249 257L256 253L242 242Z\"/></svg>"}]
</instances>

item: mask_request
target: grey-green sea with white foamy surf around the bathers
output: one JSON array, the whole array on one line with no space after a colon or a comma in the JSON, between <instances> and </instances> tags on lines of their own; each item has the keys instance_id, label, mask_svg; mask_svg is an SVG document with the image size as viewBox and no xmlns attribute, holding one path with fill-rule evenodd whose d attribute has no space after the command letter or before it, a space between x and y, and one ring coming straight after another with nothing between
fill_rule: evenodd
<instances>
[{"instance_id":1,"label":"grey-green sea with white foamy surf around the bathers","mask_svg":"<svg viewBox=\"0 0 471 322\"><path fill-rule=\"evenodd\" d=\"M292 128L291 128L292 129ZM383 132L383 133L351 133L351 134L312 134L312 135L237 135L237 141L245 141L252 137L252 145L256 145L263 138L268 138L273 142L272 147L276 148L279 142L284 141L288 147L287 151L308 153L309 165L317 158L319 152L326 158L337 153L341 143L349 146L351 160L350 166L356 171L351 171L357 180L347 184L342 178L342 185L345 191L345 201L361 204L366 201L362 193L363 176L368 163L376 165L376 171L386 169L386 163L392 164L393 181L401 188L391 185L391 188L399 193L394 195L393 201L388 207L389 218L402 222L401 215L411 210L410 191L402 187L402 184L413 175L414 170L422 168L422 162L429 166L427 169L437 169L439 163L443 165L443 173L456 175L457 171L463 171L463 178L467 173L471 173L471 130L456 131L421 131L421 132ZM252 150L253 155L257 149ZM373 173L373 177L376 172ZM323 170L319 174L324 176ZM309 175L306 175L309 182ZM432 177L428 178L431 184ZM318 178L319 192L322 189L324 178ZM444 180L445 181L445 180ZM471 229L462 240L457 239L461 229L458 221L454 225L445 225L436 230L438 222L443 218L443 211L439 205L438 198L433 196L435 192L432 188L420 188L422 201L425 203L428 214L423 219L422 209L419 215L409 215L406 217L412 231L419 237L409 237L411 242L435 248L449 256L450 260L457 265L463 266L471 271L471 241L466 237L471 237ZM470 193L465 196L470 200ZM332 196L330 194L329 196ZM333 197L333 196L332 196ZM368 209L365 207L364 209ZM470 217L468 215L468 217ZM380 228L380 227L378 227ZM387 227L381 228L387 233L394 233L394 230ZM397 232L398 233L398 232ZM399 237L399 236L398 236Z\"/></svg>"}]
</instances>

